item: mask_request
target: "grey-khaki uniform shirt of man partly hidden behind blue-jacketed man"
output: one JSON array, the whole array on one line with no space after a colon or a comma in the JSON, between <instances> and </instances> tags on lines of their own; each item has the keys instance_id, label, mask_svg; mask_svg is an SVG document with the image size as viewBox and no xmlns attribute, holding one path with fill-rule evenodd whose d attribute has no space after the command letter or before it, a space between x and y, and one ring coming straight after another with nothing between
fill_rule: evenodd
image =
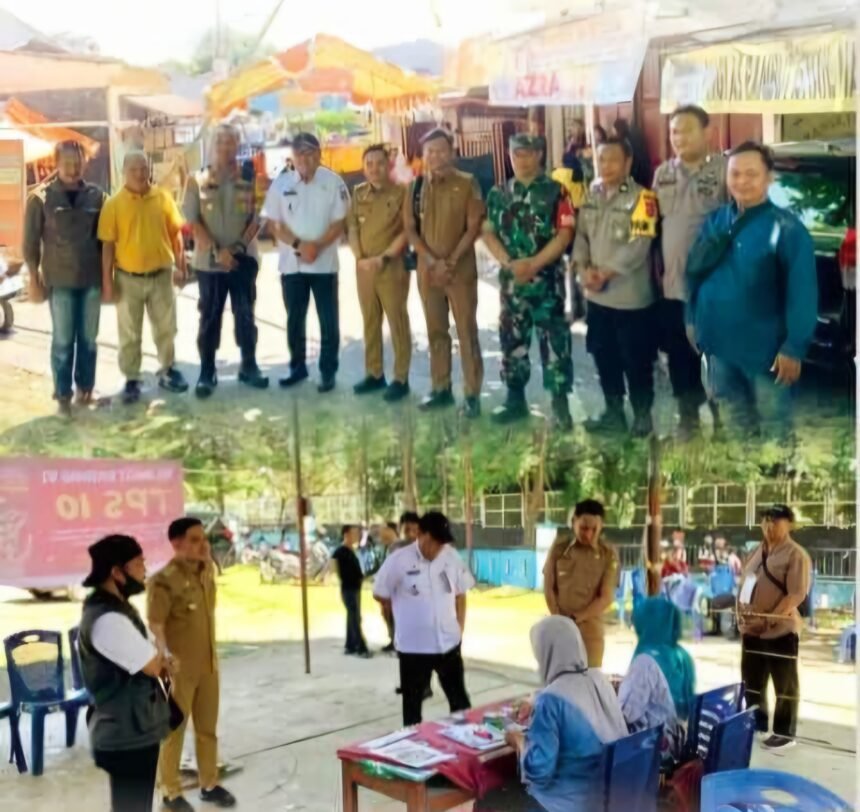
<instances>
[{"instance_id":1,"label":"grey-khaki uniform shirt of man partly hidden behind blue-jacketed man","mask_svg":"<svg viewBox=\"0 0 860 812\"><path fill-rule=\"evenodd\" d=\"M654 173L654 192L660 205L660 245L663 252L663 295L687 298L687 257L705 218L728 203L727 161L720 153L709 155L694 172L678 158L666 161Z\"/></svg>"}]
</instances>

